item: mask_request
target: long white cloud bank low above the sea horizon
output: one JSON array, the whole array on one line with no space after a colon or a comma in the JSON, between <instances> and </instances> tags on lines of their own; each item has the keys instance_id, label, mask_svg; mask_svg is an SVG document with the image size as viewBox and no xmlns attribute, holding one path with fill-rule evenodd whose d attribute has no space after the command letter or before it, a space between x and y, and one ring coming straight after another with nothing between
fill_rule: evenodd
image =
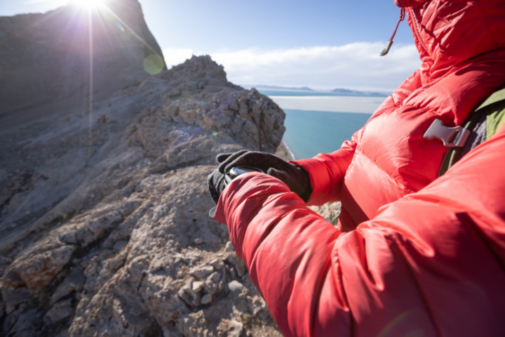
<instances>
[{"instance_id":1,"label":"long white cloud bank low above the sea horizon","mask_svg":"<svg viewBox=\"0 0 505 337\"><path fill-rule=\"evenodd\" d=\"M309 86L392 91L420 65L414 45L393 45L379 56L381 43L344 46L205 53L223 65L229 81L239 85ZM204 53L182 48L163 50L167 65Z\"/></svg>"}]
</instances>

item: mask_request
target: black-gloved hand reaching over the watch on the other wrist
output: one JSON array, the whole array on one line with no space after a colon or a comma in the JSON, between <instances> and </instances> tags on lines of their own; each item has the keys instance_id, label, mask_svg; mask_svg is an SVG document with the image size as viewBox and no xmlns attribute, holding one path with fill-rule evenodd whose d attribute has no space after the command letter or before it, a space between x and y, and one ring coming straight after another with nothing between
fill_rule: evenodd
<instances>
[{"instance_id":1,"label":"black-gloved hand reaching over the watch on the other wrist","mask_svg":"<svg viewBox=\"0 0 505 337\"><path fill-rule=\"evenodd\" d=\"M290 187L292 192L298 194L304 201L307 201L312 193L309 174L304 169L274 154L242 150L234 153L218 154L217 161L220 162L217 171L221 173L223 177L224 174L228 173L233 167L252 166L266 172L270 176L282 180L283 183ZM219 195L217 199L219 199Z\"/></svg>"}]
</instances>

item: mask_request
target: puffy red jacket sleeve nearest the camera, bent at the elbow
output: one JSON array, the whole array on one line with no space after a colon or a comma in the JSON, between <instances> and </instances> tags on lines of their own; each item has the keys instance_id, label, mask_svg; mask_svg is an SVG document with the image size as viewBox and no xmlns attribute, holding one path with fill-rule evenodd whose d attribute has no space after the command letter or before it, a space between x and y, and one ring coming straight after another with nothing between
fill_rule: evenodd
<instances>
[{"instance_id":1,"label":"puffy red jacket sleeve nearest the camera, bent at the elbow","mask_svg":"<svg viewBox=\"0 0 505 337\"><path fill-rule=\"evenodd\" d=\"M262 173L234 180L215 219L285 336L505 336L504 148L502 128L351 232Z\"/></svg>"}]
</instances>

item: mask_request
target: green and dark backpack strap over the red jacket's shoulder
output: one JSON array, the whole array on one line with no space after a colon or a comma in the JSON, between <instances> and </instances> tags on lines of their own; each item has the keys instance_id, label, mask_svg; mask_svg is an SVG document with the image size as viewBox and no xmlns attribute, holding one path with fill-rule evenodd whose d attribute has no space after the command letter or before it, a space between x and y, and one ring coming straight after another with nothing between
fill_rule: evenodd
<instances>
[{"instance_id":1,"label":"green and dark backpack strap over the red jacket's shoulder","mask_svg":"<svg viewBox=\"0 0 505 337\"><path fill-rule=\"evenodd\" d=\"M465 154L477 145L491 138L505 122L505 87L495 91L476 110L474 110L463 124L463 128L470 131L470 136L461 147L451 147L447 150L440 166L438 176L442 176Z\"/></svg>"}]
</instances>

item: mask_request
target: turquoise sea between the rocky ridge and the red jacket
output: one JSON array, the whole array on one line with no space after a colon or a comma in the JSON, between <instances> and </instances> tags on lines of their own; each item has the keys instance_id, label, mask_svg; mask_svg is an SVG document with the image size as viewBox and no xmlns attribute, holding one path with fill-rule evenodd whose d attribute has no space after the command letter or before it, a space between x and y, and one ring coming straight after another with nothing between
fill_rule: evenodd
<instances>
[{"instance_id":1,"label":"turquoise sea between the rocky ridge and the red jacket","mask_svg":"<svg viewBox=\"0 0 505 337\"><path fill-rule=\"evenodd\" d=\"M365 125L385 98L307 91L260 92L284 110L283 141L296 159L339 149L344 140Z\"/></svg>"}]
</instances>

